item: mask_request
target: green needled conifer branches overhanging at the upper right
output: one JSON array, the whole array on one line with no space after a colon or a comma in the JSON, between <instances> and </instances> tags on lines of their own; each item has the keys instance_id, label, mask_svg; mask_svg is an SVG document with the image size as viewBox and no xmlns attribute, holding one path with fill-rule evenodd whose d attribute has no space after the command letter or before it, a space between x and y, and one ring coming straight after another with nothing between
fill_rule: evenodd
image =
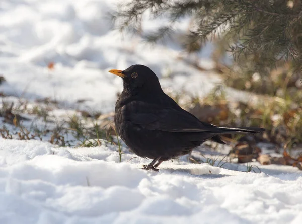
<instances>
[{"instance_id":1,"label":"green needled conifer branches overhanging at the upper right","mask_svg":"<svg viewBox=\"0 0 302 224\"><path fill-rule=\"evenodd\" d=\"M112 17L121 31L154 43L171 36L173 24L190 16L192 26L182 43L187 51L199 50L205 40L222 34L236 60L244 55L259 66L271 66L302 58L302 3L287 4L287 0L132 0L120 5ZM147 11L152 18L169 18L170 23L143 34L141 19Z\"/></svg>"}]
</instances>

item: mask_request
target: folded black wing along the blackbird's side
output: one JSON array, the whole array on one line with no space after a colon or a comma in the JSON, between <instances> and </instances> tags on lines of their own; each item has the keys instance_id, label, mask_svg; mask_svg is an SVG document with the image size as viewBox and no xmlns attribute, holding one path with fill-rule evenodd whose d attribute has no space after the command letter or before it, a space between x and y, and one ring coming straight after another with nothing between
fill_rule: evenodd
<instances>
[{"instance_id":1,"label":"folded black wing along the blackbird's side","mask_svg":"<svg viewBox=\"0 0 302 224\"><path fill-rule=\"evenodd\" d=\"M130 121L149 130L170 132L201 132L212 130L214 125L204 124L182 109L155 109L151 112L131 113Z\"/></svg>"}]
</instances>

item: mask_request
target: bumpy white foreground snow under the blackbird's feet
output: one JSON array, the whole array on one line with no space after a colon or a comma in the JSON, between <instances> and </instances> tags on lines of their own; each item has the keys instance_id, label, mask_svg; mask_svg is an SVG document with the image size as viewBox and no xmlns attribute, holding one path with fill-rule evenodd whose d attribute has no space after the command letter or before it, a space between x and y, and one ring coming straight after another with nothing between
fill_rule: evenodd
<instances>
[{"instance_id":1,"label":"bumpy white foreground snow under the blackbird's feet","mask_svg":"<svg viewBox=\"0 0 302 224\"><path fill-rule=\"evenodd\" d=\"M114 147L68 148L0 140L1 223L298 223L302 175L208 164L118 160ZM102 159L95 159L95 158ZM237 165L239 166L239 165ZM211 173L209 173L211 171Z\"/></svg>"}]
</instances>

